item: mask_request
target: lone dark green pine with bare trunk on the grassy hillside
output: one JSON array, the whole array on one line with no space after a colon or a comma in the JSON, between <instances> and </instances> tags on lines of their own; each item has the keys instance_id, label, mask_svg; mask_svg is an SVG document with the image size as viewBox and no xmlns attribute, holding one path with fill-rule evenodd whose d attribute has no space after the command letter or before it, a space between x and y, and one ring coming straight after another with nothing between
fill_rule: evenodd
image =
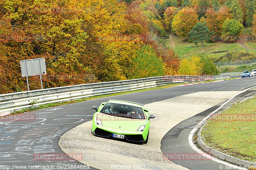
<instances>
[{"instance_id":1,"label":"lone dark green pine with bare trunk on the grassy hillside","mask_svg":"<svg viewBox=\"0 0 256 170\"><path fill-rule=\"evenodd\" d=\"M208 26L205 26L205 22L198 22L193 29L188 33L189 41L194 42L195 45L198 42L202 43L202 50L204 50L203 41L209 40L213 32L209 31Z\"/></svg>"}]
</instances>

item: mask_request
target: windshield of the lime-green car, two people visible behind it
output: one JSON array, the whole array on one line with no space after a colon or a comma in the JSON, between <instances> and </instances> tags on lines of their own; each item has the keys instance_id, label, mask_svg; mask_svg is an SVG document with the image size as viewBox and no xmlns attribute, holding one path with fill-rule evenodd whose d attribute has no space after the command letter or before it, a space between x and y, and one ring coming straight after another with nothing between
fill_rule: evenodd
<instances>
[{"instance_id":1,"label":"windshield of the lime-green car, two people visible behind it","mask_svg":"<svg viewBox=\"0 0 256 170\"><path fill-rule=\"evenodd\" d=\"M125 117L129 119L145 119L141 107L135 107L118 103L106 103L100 110L100 113L105 113L112 116Z\"/></svg>"}]
</instances>

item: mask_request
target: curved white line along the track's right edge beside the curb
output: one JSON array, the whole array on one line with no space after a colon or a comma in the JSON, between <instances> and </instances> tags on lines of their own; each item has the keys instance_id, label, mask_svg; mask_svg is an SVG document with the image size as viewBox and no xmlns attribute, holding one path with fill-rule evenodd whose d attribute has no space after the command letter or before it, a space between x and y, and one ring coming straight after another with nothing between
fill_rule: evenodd
<instances>
[{"instance_id":1,"label":"curved white line along the track's right edge beside the curb","mask_svg":"<svg viewBox=\"0 0 256 170\"><path fill-rule=\"evenodd\" d=\"M201 151L200 149L198 149L196 147L196 145L193 143L193 135L195 134L196 130L198 129L198 127L201 127L205 122L206 122L206 119L208 119L211 115L213 115L215 112L217 112L221 107L225 106L230 100L232 100L234 97L236 97L237 95L243 93L243 92L246 92L247 90L250 90L252 88L254 88L256 86L253 86L253 87L250 87L248 89L245 89L244 91L242 92L239 92L237 93L235 96L233 96L232 98L228 99L228 101L226 101L225 103L223 103L219 108L217 108L216 110L214 110L210 115L208 115L207 117L205 117L201 122L199 122L196 127L189 133L188 135L188 143L190 145L190 147L196 151L197 153L199 153L200 155L202 155L203 157L205 152ZM206 157L205 157L206 158ZM223 165L226 165L226 166L229 166L229 167L232 167L233 169L241 169L241 170L247 170L246 168L242 168L242 167L239 167L239 166L235 166L235 165L232 165L232 164L229 164L228 162L225 162L225 161L222 161L222 160L219 160L219 159L216 159L214 157L212 157L211 155L209 155L208 158L211 158L211 160L215 161L215 162L218 162L220 164L223 164Z\"/></svg>"}]
</instances>

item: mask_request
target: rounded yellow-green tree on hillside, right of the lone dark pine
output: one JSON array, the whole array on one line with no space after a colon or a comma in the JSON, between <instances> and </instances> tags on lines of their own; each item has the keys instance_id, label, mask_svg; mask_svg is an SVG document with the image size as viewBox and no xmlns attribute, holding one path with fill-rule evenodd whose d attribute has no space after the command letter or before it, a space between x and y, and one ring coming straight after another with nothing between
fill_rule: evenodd
<instances>
[{"instance_id":1,"label":"rounded yellow-green tree on hillside, right of the lone dark pine","mask_svg":"<svg viewBox=\"0 0 256 170\"><path fill-rule=\"evenodd\" d=\"M227 18L222 24L221 39L223 41L236 41L243 31L244 26L236 19Z\"/></svg>"}]
</instances>

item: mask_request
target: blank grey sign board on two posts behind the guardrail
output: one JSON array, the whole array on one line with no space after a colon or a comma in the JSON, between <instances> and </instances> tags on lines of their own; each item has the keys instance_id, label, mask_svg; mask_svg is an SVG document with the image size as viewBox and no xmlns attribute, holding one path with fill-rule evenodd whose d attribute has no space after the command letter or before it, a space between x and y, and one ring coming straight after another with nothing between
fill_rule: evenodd
<instances>
[{"instance_id":1,"label":"blank grey sign board on two posts behind the guardrail","mask_svg":"<svg viewBox=\"0 0 256 170\"><path fill-rule=\"evenodd\" d=\"M40 75L41 88L43 89L41 75L46 75L44 58L21 60L20 61L20 70L21 70L21 76L27 77L27 84L28 84L28 76ZM29 91L29 85L28 85L28 91Z\"/></svg>"}]
</instances>

